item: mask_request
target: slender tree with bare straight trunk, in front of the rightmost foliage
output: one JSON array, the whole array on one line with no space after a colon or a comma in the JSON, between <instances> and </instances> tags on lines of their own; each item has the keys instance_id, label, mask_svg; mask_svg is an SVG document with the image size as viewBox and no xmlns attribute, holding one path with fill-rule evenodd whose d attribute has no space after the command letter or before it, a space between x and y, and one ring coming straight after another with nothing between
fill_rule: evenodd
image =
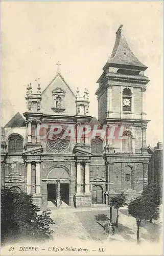
<instances>
[{"instance_id":1,"label":"slender tree with bare straight trunk, in front of the rightmost foliage","mask_svg":"<svg viewBox=\"0 0 164 256\"><path fill-rule=\"evenodd\" d=\"M143 197L137 197L128 205L128 213L136 219L137 224L137 243L139 243L139 227L143 219L145 219L145 208Z\"/></svg>"}]
</instances>

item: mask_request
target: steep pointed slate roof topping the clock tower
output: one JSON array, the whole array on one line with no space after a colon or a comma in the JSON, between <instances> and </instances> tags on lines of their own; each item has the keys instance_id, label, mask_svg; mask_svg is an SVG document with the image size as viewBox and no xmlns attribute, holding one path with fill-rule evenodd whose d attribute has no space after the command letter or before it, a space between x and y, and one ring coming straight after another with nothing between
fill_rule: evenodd
<instances>
[{"instance_id":1,"label":"steep pointed slate roof topping the clock tower","mask_svg":"<svg viewBox=\"0 0 164 256\"><path fill-rule=\"evenodd\" d=\"M118 31L116 31L116 39L112 54L103 69L105 70L106 67L126 66L137 70L146 70L147 67L135 57L130 47L128 46L128 43L122 32L122 27L123 25L121 25Z\"/></svg>"}]
</instances>

